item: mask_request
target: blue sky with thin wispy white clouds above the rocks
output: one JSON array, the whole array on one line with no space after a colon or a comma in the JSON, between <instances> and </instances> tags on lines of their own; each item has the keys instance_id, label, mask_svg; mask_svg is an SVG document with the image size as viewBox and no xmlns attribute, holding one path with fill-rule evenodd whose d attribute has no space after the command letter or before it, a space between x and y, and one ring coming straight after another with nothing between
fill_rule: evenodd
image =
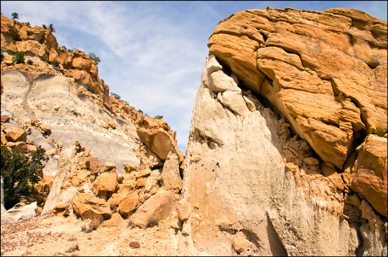
<instances>
[{"instance_id":1,"label":"blue sky with thin wispy white clouds above the rocks","mask_svg":"<svg viewBox=\"0 0 388 257\"><path fill-rule=\"evenodd\" d=\"M59 46L95 53L110 91L150 117L162 115L185 153L211 32L231 14L267 6L352 8L387 21L387 1L1 1L1 13L52 23Z\"/></svg>"}]
</instances>

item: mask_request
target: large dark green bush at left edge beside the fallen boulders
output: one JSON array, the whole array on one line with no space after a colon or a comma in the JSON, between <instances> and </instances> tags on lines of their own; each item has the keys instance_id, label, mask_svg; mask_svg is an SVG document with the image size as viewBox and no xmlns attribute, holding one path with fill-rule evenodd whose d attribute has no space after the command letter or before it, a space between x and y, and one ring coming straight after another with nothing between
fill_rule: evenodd
<instances>
[{"instance_id":1,"label":"large dark green bush at left edge beside the fallen boulders","mask_svg":"<svg viewBox=\"0 0 388 257\"><path fill-rule=\"evenodd\" d=\"M42 161L48 161L45 150L38 146L36 152L29 155L19 150L10 152L5 146L1 146L1 176L4 181L4 204L8 210L17 203L16 194L32 194L35 183L39 181L38 169L45 165Z\"/></svg>"}]
</instances>

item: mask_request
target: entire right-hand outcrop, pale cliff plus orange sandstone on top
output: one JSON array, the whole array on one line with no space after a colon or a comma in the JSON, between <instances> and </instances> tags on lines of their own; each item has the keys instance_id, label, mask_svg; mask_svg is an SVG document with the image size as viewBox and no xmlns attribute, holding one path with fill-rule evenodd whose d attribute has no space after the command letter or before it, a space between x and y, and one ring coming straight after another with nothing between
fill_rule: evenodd
<instances>
[{"instance_id":1,"label":"entire right-hand outcrop, pale cliff plus orange sandstone on top","mask_svg":"<svg viewBox=\"0 0 388 257\"><path fill-rule=\"evenodd\" d=\"M210 254L387 253L387 23L268 7L208 46L182 233Z\"/></svg>"}]
</instances>

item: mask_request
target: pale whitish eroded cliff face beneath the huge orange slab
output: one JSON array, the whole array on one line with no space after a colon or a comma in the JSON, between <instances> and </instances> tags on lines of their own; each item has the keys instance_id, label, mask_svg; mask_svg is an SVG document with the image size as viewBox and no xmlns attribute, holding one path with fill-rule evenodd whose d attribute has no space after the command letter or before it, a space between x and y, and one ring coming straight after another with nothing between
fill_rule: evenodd
<instances>
[{"instance_id":1,"label":"pale whitish eroded cliff face beneath the huge orange slab","mask_svg":"<svg viewBox=\"0 0 388 257\"><path fill-rule=\"evenodd\" d=\"M324 210L343 202L334 206L296 185L278 120L227 73L214 55L207 58L193 109L182 197L194 206L183 226L196 248L235 255L232 241L242 232L242 255L381 255L384 231L364 227L374 247L364 252L360 227Z\"/></svg>"}]
</instances>

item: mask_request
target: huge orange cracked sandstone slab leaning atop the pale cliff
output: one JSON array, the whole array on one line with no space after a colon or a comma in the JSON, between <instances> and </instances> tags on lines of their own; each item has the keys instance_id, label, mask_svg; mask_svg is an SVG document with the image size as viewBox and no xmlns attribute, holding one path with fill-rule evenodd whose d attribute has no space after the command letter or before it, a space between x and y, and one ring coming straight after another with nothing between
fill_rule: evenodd
<instances>
[{"instance_id":1,"label":"huge orange cracked sandstone slab leaning atop the pale cliff","mask_svg":"<svg viewBox=\"0 0 388 257\"><path fill-rule=\"evenodd\" d=\"M384 21L345 9L249 10L222 20L208 46L339 170L362 134L387 133Z\"/></svg>"}]
</instances>

